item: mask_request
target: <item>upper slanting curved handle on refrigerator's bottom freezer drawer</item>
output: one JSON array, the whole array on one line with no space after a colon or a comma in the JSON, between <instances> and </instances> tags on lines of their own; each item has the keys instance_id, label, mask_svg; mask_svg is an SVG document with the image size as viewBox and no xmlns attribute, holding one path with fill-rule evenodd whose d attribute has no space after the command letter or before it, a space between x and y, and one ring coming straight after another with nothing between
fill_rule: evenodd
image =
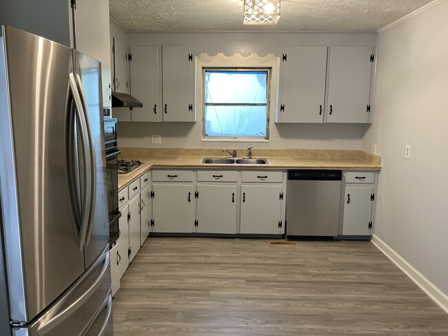
<instances>
[{"instance_id":1,"label":"upper slanting curved handle on refrigerator's bottom freezer drawer","mask_svg":"<svg viewBox=\"0 0 448 336\"><path fill-rule=\"evenodd\" d=\"M79 307L81 307L95 293L96 289L98 289L98 287L101 286L101 283L103 283L105 277L108 275L109 258L110 258L109 252L103 253L103 255L104 255L104 258L101 258L100 260L98 260L98 262L104 263L103 269L101 269L101 273L100 273L99 277L96 278L96 280L92 284L92 286L90 286L87 291L85 291L81 296L79 296L77 298L77 300L72 302L72 304L70 304L70 306L68 306L63 311L61 311L61 313L55 315L48 322L45 322L45 324L40 326L37 329L38 335L47 334L50 330L52 330L58 324L63 322L63 320L66 319L67 317L69 317L70 315L72 315L72 313L74 313L74 311L77 311L77 309L79 309ZM96 269L96 267L94 267L92 269Z\"/></svg>"}]
</instances>

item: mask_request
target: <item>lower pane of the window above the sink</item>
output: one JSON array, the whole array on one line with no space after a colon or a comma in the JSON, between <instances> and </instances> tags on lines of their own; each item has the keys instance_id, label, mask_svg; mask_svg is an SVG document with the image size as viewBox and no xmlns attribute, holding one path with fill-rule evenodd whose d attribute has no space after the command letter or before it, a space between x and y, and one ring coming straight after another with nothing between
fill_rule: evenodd
<instances>
[{"instance_id":1,"label":"lower pane of the window above the sink","mask_svg":"<svg viewBox=\"0 0 448 336\"><path fill-rule=\"evenodd\" d=\"M206 106L205 136L266 134L266 106Z\"/></svg>"}]
</instances>

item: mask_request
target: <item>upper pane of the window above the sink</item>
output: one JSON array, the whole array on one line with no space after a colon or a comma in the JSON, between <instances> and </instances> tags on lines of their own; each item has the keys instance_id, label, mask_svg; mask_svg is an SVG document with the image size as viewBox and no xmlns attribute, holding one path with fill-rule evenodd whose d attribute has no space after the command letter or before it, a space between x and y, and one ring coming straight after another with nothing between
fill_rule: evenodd
<instances>
[{"instance_id":1,"label":"upper pane of the window above the sink","mask_svg":"<svg viewBox=\"0 0 448 336\"><path fill-rule=\"evenodd\" d=\"M205 72L205 103L267 103L267 71Z\"/></svg>"}]
</instances>

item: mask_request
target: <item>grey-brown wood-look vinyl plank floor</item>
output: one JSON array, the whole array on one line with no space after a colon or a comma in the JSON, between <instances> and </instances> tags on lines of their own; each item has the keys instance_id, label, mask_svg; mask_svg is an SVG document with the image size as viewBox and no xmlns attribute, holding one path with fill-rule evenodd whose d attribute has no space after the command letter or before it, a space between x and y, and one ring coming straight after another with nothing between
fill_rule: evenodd
<instances>
[{"instance_id":1,"label":"grey-brown wood-look vinyl plank floor","mask_svg":"<svg viewBox=\"0 0 448 336\"><path fill-rule=\"evenodd\" d=\"M114 335L448 336L448 315L371 242L148 238Z\"/></svg>"}]
</instances>

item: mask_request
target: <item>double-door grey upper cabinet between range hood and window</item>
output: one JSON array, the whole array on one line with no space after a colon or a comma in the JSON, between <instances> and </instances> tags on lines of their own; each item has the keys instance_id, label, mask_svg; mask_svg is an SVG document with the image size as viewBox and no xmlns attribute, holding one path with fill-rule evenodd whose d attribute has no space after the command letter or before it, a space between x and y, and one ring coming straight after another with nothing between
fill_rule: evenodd
<instances>
[{"instance_id":1,"label":"double-door grey upper cabinet between range hood and window","mask_svg":"<svg viewBox=\"0 0 448 336\"><path fill-rule=\"evenodd\" d=\"M128 121L196 121L194 60L186 45L131 45L130 94L143 103Z\"/></svg>"}]
</instances>

